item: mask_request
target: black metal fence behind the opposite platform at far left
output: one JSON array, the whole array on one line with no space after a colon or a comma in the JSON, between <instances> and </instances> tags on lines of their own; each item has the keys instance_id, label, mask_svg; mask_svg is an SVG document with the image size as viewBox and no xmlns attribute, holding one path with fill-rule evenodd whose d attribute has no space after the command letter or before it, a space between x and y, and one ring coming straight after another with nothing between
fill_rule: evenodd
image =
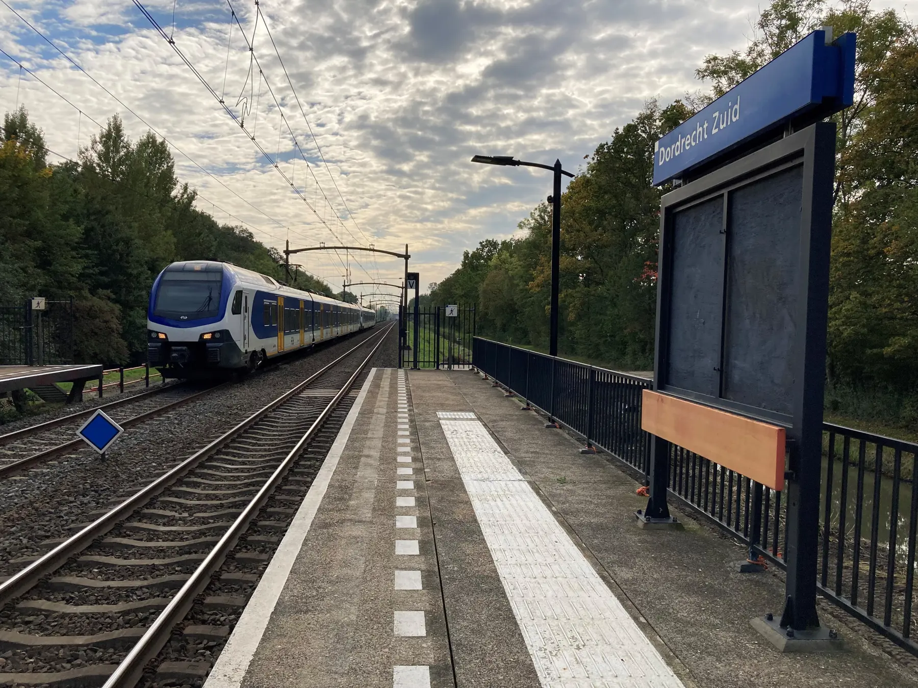
<instances>
[{"instance_id":1,"label":"black metal fence behind the opposite platform at far left","mask_svg":"<svg viewBox=\"0 0 918 688\"><path fill-rule=\"evenodd\" d=\"M73 300L0 305L0 365L73 362Z\"/></svg>"}]
</instances>

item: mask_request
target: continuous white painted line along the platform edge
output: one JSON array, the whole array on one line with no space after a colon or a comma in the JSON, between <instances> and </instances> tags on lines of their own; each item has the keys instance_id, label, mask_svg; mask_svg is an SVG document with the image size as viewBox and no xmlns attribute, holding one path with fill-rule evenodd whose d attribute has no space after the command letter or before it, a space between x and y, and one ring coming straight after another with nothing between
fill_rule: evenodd
<instances>
[{"instance_id":1,"label":"continuous white painted line along the platform edge","mask_svg":"<svg viewBox=\"0 0 918 688\"><path fill-rule=\"evenodd\" d=\"M370 389L370 383L373 382L377 370L374 368L367 375L360 394L357 394L351 410L344 418L344 424L338 432L338 437L335 438L328 456L322 462L322 467L309 486L306 498L299 505L297 515L293 517L284 539L274 552L274 557L268 564L268 568L265 569L262 580L259 581L255 592L249 599L249 604L245 606L245 611L242 612L227 644L220 652L217 663L207 676L204 688L240 688L246 671L249 671L252 657L255 656L255 650L262 642L264 629L268 626L268 621L274 613L274 606L277 605L277 600L284 590L293 563L297 560L303 540L306 539L309 527L312 526L312 520L319 511L319 505L329 487L331 476L338 467L344 446L351 437L351 430L364 405L366 393Z\"/></svg>"}]
</instances>

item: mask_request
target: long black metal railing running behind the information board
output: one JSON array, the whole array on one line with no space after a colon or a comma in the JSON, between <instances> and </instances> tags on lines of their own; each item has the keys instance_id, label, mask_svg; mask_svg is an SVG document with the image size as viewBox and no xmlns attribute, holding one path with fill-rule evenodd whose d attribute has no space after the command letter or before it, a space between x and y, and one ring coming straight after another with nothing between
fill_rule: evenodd
<instances>
[{"instance_id":1,"label":"long black metal railing running behind the information board","mask_svg":"<svg viewBox=\"0 0 918 688\"><path fill-rule=\"evenodd\" d=\"M641 429L651 380L474 339L474 365L556 422L646 475ZM912 587L918 532L918 444L823 424L817 585L835 605L918 654ZM787 505L755 483L672 446L669 495L784 566Z\"/></svg>"}]
</instances>

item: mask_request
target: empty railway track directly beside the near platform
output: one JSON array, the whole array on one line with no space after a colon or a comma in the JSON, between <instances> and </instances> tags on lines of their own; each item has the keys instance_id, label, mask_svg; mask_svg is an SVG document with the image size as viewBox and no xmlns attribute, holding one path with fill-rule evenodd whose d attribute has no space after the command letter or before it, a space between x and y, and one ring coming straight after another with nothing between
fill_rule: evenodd
<instances>
[{"instance_id":1,"label":"empty railway track directly beside the near platform","mask_svg":"<svg viewBox=\"0 0 918 688\"><path fill-rule=\"evenodd\" d=\"M229 635L390 332L365 339L0 583L0 685L199 682L192 677L203 677L208 648ZM231 551L229 571L215 578ZM210 596L197 599L206 589Z\"/></svg>"}]
</instances>

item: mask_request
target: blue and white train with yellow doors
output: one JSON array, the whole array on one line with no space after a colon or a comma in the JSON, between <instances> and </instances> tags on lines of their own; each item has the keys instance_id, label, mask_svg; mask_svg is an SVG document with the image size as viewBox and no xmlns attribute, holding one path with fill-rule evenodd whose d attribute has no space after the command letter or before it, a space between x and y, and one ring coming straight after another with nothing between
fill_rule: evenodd
<instances>
[{"instance_id":1,"label":"blue and white train with yellow doors","mask_svg":"<svg viewBox=\"0 0 918 688\"><path fill-rule=\"evenodd\" d=\"M231 263L182 261L153 283L147 351L163 377L200 377L251 371L374 325L370 308L292 289Z\"/></svg>"}]
</instances>

